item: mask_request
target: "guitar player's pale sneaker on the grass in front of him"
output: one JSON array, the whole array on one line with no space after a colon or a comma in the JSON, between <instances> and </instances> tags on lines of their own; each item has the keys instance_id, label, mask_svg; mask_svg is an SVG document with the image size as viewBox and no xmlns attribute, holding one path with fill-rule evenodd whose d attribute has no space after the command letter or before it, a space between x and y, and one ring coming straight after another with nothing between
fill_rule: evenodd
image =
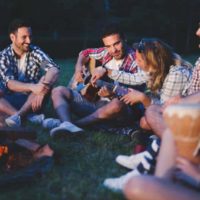
<instances>
[{"instance_id":1,"label":"guitar player's pale sneaker on the grass in front of him","mask_svg":"<svg viewBox=\"0 0 200 200\"><path fill-rule=\"evenodd\" d=\"M83 129L72 124L71 122L65 121L65 122L61 123L58 127L53 128L50 131L50 136L53 137L54 135L56 135L60 132L70 132L70 133L76 134L76 133L83 132Z\"/></svg>"}]
</instances>

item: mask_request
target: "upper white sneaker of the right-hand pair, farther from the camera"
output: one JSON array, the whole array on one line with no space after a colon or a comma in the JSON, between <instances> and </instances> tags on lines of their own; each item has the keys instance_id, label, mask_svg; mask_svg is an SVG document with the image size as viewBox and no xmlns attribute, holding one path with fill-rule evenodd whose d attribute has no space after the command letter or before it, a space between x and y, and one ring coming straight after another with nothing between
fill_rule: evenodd
<instances>
[{"instance_id":1,"label":"upper white sneaker of the right-hand pair, farther from the camera","mask_svg":"<svg viewBox=\"0 0 200 200\"><path fill-rule=\"evenodd\" d=\"M151 154L148 151L144 151L131 156L119 155L116 157L115 161L128 169L136 169L144 157L152 159Z\"/></svg>"}]
</instances>

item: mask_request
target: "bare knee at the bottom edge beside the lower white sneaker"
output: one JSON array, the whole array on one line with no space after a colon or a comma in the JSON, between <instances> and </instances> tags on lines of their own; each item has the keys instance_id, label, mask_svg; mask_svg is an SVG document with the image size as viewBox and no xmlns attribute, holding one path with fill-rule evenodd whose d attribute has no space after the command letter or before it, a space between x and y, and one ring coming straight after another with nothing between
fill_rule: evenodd
<instances>
[{"instance_id":1,"label":"bare knee at the bottom edge beside the lower white sneaker","mask_svg":"<svg viewBox=\"0 0 200 200\"><path fill-rule=\"evenodd\" d=\"M145 187L145 181L141 177L134 177L127 182L123 192L129 200L141 199Z\"/></svg>"}]
</instances>

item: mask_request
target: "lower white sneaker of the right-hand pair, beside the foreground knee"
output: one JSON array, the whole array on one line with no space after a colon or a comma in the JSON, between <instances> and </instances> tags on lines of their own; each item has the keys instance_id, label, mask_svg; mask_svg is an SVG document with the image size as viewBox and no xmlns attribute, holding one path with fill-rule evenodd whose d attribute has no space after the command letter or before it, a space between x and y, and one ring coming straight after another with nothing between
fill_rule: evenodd
<instances>
[{"instance_id":1,"label":"lower white sneaker of the right-hand pair, beside the foreground knee","mask_svg":"<svg viewBox=\"0 0 200 200\"><path fill-rule=\"evenodd\" d=\"M125 184L134 176L141 175L138 170L133 170L119 178L107 178L103 182L103 185L113 191L122 191Z\"/></svg>"}]
</instances>

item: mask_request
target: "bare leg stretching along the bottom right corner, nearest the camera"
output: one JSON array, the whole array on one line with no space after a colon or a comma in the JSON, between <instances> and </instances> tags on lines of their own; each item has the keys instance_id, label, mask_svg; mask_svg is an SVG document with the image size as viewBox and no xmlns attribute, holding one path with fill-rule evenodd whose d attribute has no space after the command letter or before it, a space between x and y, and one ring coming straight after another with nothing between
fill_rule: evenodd
<instances>
[{"instance_id":1,"label":"bare leg stretching along the bottom right corner, nearest the camera","mask_svg":"<svg viewBox=\"0 0 200 200\"><path fill-rule=\"evenodd\" d=\"M132 178L126 184L124 194L129 200L199 199L199 192L153 176L138 176Z\"/></svg>"}]
</instances>

